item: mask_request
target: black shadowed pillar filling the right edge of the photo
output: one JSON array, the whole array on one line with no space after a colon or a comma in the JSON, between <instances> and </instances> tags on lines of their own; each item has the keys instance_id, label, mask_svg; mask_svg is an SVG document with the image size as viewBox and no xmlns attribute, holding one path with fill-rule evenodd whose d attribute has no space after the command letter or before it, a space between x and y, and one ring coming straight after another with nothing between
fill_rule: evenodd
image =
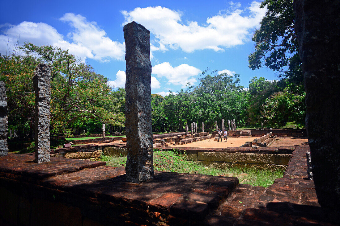
<instances>
[{"instance_id":1,"label":"black shadowed pillar filling the right edge of the photo","mask_svg":"<svg viewBox=\"0 0 340 226\"><path fill-rule=\"evenodd\" d=\"M294 11L315 190L321 207L340 212L340 4L295 0Z\"/></svg>"}]
</instances>

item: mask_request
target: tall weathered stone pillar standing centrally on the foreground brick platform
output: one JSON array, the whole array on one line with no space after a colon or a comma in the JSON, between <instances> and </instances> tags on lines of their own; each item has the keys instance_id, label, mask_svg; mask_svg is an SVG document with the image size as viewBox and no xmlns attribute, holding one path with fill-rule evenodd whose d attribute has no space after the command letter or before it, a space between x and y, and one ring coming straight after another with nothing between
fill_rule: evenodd
<instances>
[{"instance_id":1,"label":"tall weathered stone pillar standing centrally on the foreground brick platform","mask_svg":"<svg viewBox=\"0 0 340 226\"><path fill-rule=\"evenodd\" d=\"M126 180L140 183L153 177L151 123L150 31L131 22L124 26L126 82Z\"/></svg>"}]
</instances>

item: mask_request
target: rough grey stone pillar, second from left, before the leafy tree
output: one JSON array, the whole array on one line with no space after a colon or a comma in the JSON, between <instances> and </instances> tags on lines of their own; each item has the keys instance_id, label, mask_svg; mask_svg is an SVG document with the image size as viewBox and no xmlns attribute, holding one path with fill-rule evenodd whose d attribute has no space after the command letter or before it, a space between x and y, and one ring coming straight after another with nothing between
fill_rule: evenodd
<instances>
[{"instance_id":1,"label":"rough grey stone pillar, second from left, before the leafy tree","mask_svg":"<svg viewBox=\"0 0 340 226\"><path fill-rule=\"evenodd\" d=\"M39 63L35 69L33 87L35 92L35 162L50 162L50 105L51 105L50 65Z\"/></svg>"}]
</instances>

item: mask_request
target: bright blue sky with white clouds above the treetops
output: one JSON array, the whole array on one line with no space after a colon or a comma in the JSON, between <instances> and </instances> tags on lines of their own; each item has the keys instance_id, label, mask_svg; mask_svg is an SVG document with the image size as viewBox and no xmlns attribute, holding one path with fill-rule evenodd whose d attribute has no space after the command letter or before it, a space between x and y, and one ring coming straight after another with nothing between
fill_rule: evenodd
<instances>
[{"instance_id":1,"label":"bright blue sky with white clouds above the treetops","mask_svg":"<svg viewBox=\"0 0 340 226\"><path fill-rule=\"evenodd\" d=\"M0 53L20 44L55 45L86 60L109 85L125 87L123 25L136 21L151 32L151 93L166 95L199 84L210 70L277 79L267 68L252 71L251 37L266 9L256 1L3 1ZM8 46L7 46L8 43Z\"/></svg>"}]
</instances>

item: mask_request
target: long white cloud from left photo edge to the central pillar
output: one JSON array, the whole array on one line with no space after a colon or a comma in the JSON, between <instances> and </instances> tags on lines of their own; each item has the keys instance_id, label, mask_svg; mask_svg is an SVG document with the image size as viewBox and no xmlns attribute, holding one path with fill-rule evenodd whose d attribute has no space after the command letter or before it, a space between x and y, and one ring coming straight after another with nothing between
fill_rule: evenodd
<instances>
[{"instance_id":1,"label":"long white cloud from left photo edge to the central pillar","mask_svg":"<svg viewBox=\"0 0 340 226\"><path fill-rule=\"evenodd\" d=\"M23 21L18 25L2 24L0 35L0 52L11 51L20 37L20 43L32 42L35 45L54 45L62 49L69 49L70 53L82 59L107 61L111 59L123 60L125 43L112 41L96 22L89 22L81 15L66 13L62 18L68 22L72 31L65 37L46 23ZM8 43L8 46L7 46Z\"/></svg>"}]
</instances>

